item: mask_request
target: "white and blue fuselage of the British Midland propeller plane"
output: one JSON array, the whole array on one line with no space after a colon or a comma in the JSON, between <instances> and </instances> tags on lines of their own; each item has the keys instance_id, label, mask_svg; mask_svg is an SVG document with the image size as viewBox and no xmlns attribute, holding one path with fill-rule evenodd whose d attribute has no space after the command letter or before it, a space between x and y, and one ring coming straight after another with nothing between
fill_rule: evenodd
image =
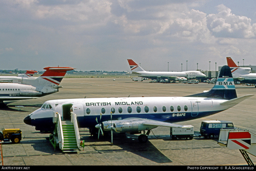
<instances>
[{"instance_id":1,"label":"white and blue fuselage of the British Midland propeller plane","mask_svg":"<svg viewBox=\"0 0 256 171\"><path fill-rule=\"evenodd\" d=\"M230 108L220 105L227 100L203 97L127 97L127 98L87 98L46 101L41 108L27 117L29 125L37 130L53 127L53 112L65 116L66 106L77 115L80 128L94 127L96 117L101 121L126 118L146 118L163 122L181 122L213 115ZM24 119L25 122L25 119ZM25 123L26 123L25 122Z\"/></svg>"}]
</instances>

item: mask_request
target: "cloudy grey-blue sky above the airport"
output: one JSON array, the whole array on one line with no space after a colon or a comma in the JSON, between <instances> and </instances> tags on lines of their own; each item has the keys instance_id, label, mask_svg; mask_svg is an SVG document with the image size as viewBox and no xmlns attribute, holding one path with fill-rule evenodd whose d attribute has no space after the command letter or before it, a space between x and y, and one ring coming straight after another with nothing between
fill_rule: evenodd
<instances>
[{"instance_id":1,"label":"cloudy grey-blue sky above the airport","mask_svg":"<svg viewBox=\"0 0 256 171\"><path fill-rule=\"evenodd\" d=\"M1 0L0 69L215 70L256 65L256 2ZM211 61L211 63L209 63Z\"/></svg>"}]
</instances>

